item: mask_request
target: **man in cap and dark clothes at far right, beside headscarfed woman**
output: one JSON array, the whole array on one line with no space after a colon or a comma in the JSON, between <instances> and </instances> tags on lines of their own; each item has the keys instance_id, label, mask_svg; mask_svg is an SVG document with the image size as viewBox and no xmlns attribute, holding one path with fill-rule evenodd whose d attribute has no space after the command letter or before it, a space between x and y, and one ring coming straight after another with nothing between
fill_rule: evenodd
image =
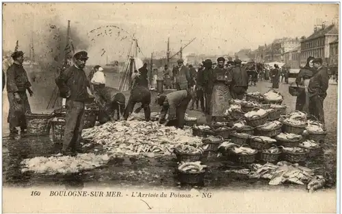
<instances>
[{"instance_id":1,"label":"man in cap and dark clothes at far right, beside headscarfed woman","mask_svg":"<svg viewBox=\"0 0 342 214\"><path fill-rule=\"evenodd\" d=\"M316 58L313 60L313 66L316 68L316 74L311 77L308 83L308 94L310 97L308 110L312 116L315 116L321 123L324 121L324 99L329 86L328 69L322 66L322 59Z\"/></svg>"}]
</instances>

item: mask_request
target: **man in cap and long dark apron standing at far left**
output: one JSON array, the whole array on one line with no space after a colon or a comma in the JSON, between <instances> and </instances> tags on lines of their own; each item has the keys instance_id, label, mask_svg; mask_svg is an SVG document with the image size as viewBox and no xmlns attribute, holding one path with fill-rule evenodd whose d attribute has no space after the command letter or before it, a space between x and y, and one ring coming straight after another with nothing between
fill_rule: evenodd
<instances>
[{"instance_id":1,"label":"man in cap and long dark apron standing at far left","mask_svg":"<svg viewBox=\"0 0 342 214\"><path fill-rule=\"evenodd\" d=\"M27 129L25 113L31 113L31 107L27 98L26 90L30 96L34 95L31 90L31 83L27 77L27 72L23 67L24 53L16 51L12 55L13 64L7 70L8 102L10 111L8 112L8 123L10 124L10 133L17 134L16 127L21 128L21 133Z\"/></svg>"}]
</instances>

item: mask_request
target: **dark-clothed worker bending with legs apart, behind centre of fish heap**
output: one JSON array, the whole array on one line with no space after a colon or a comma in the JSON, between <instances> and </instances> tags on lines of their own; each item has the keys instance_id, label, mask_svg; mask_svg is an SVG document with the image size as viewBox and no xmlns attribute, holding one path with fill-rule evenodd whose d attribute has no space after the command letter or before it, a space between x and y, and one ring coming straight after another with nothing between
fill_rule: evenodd
<instances>
[{"instance_id":1,"label":"dark-clothed worker bending with legs apart, behind centre of fish heap","mask_svg":"<svg viewBox=\"0 0 342 214\"><path fill-rule=\"evenodd\" d=\"M131 96L129 96L129 101L124 109L124 120L131 116L136 103L142 103L142 106L137 108L135 113L139 113L141 109L144 109L145 120L150 121L150 91L142 85L137 85L131 90Z\"/></svg>"}]
</instances>

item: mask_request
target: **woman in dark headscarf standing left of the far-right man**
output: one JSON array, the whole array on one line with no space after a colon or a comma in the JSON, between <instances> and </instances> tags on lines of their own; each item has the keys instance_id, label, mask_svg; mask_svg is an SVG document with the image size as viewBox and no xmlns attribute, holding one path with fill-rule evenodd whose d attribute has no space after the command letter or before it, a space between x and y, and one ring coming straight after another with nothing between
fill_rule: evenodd
<instances>
[{"instance_id":1,"label":"woman in dark headscarf standing left of the far-right man","mask_svg":"<svg viewBox=\"0 0 342 214\"><path fill-rule=\"evenodd\" d=\"M308 82L310 81L311 77L315 75L313 59L315 59L315 57L308 57L308 59L306 59L306 65L304 66L304 68L300 69L298 77L295 79L295 83L297 83L297 85L303 85L305 87L305 91L297 96L297 101L295 102L295 110L304 111L306 113L308 113L309 100Z\"/></svg>"}]
</instances>

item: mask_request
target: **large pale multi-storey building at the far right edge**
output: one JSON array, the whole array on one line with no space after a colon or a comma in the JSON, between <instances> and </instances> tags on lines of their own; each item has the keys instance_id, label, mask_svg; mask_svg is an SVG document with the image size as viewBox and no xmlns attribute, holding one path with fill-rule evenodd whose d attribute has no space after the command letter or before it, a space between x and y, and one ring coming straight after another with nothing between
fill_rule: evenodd
<instances>
[{"instance_id":1,"label":"large pale multi-storey building at the far right edge","mask_svg":"<svg viewBox=\"0 0 342 214\"><path fill-rule=\"evenodd\" d=\"M305 66L306 59L310 56L321 57L324 64L330 61L330 43L339 37L339 29L332 24L315 26L313 34L308 38L302 37L300 42L301 59L300 65Z\"/></svg>"}]
</instances>

